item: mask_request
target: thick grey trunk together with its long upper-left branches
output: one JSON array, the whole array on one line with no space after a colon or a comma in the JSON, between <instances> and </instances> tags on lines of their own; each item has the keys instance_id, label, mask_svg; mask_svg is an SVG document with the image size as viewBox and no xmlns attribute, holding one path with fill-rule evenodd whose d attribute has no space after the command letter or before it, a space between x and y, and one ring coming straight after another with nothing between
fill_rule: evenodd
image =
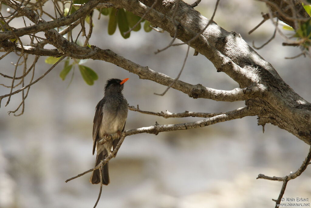
<instances>
[{"instance_id":1,"label":"thick grey trunk together with its long upper-left branches","mask_svg":"<svg viewBox=\"0 0 311 208\"><path fill-rule=\"evenodd\" d=\"M45 56L69 56L72 58L104 60L114 63L125 70L139 75L142 79L149 79L162 85L170 85L173 78L158 73L134 63L110 50L103 50L96 46L81 47L67 41L53 28L69 25L85 16L100 0L91 0L72 15L58 20L45 22L35 12L20 5L15 0L3 0L10 7L18 10L35 23L34 26L15 29L0 33L2 51L22 51L22 46L9 43L8 39L22 36L34 31L45 31L47 41L57 50L47 50L40 46L23 46L24 53ZM153 0L108 0L116 8L125 8L138 16L143 16L151 6ZM168 31L174 36L174 24L171 16L175 8L175 0L158 1L154 10L146 15L152 25ZM209 20L183 1L175 15L177 38L183 42L190 40L200 32ZM197 39L190 43L196 51L206 56L219 72L229 75L240 85L240 89L229 91L216 90L200 84L191 85L183 81L176 81L172 88L180 90L193 98L207 98L221 101L245 100L248 109L258 115L258 124L264 126L272 123L279 128L294 134L307 144L311 144L311 104L294 92L278 75L270 63L264 60L252 49L243 38L235 33L225 31L215 22ZM25 87L26 88L26 87ZM21 90L19 90L21 91ZM13 93L17 93L16 91ZM0 96L0 99L10 94Z\"/></svg>"}]
</instances>

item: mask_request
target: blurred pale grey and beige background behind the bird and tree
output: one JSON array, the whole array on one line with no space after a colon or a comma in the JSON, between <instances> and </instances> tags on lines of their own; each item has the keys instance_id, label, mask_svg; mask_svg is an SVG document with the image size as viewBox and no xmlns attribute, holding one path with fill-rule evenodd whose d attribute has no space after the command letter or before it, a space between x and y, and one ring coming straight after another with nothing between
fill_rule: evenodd
<instances>
[{"instance_id":1,"label":"blurred pale grey and beige background behind the bird and tree","mask_svg":"<svg viewBox=\"0 0 311 208\"><path fill-rule=\"evenodd\" d=\"M193 3L194 1L186 1ZM196 9L211 17L216 1L202 1ZM3 9L3 8L2 8ZM220 1L214 18L227 31L240 33L249 45L266 42L273 34L271 21L265 22L251 35L267 11L256 1ZM95 11L94 17L98 12ZM49 18L45 20L49 21ZM157 55L154 52L171 41L167 32L143 30L131 32L123 39L118 31L107 33L108 18L93 18L91 45L111 49L117 54L152 70L176 77L182 67L187 46L171 47ZM23 27L22 22L16 26ZM117 29L118 30L118 29ZM286 31L284 31L286 33ZM284 59L300 53L297 47L281 46L279 35L259 50L296 93L311 101L310 59ZM204 56L192 56L191 48L180 80L216 89L239 87L225 73L217 73ZM2 55L2 54L1 54ZM12 75L17 56L9 54L1 60L1 72ZM35 78L51 65L39 59ZM95 164L92 155L92 122L95 106L103 97L109 78L130 78L124 96L130 105L160 112L225 112L244 107L244 102L216 102L191 99L188 95L150 80L140 80L116 65L88 60L84 65L99 75L94 85L87 85L79 70L70 85L59 77L63 63L30 88L25 113L20 117L7 111L21 102L21 94L2 100L0 109L0 207L93 207L99 185L89 183L91 173L65 183ZM10 84L1 77L1 83ZM0 87L0 93L9 89ZM200 118L164 119L129 111L125 129L160 124L201 120ZM256 117L217 123L204 128L152 134L137 134L125 138L118 155L109 162L110 184L103 186L98 207L188 208L188 207L274 207L281 182L256 179L259 173L285 176L295 172L306 157L309 146L271 124L257 125ZM288 183L284 197L311 200L311 171Z\"/></svg>"}]
</instances>

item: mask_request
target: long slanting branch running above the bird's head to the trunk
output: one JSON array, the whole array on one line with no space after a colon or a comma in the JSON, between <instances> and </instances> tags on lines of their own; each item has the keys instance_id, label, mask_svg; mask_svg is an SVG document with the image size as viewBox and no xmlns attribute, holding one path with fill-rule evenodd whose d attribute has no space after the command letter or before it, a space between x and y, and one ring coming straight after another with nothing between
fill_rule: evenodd
<instances>
[{"instance_id":1,"label":"long slanting branch running above the bird's head to the trunk","mask_svg":"<svg viewBox=\"0 0 311 208\"><path fill-rule=\"evenodd\" d=\"M171 83L174 82L174 79L172 77L169 77L162 73L158 73L154 70L151 70L148 67L138 65L132 62L131 60L128 60L122 56L119 56L118 54L114 53L113 51L109 49L103 50L95 46L92 46L91 48L81 47L67 40L65 42L66 44L64 44L64 47L67 48L66 49L68 51L67 56L70 55L70 57L72 58L77 58L77 59L91 58L94 60L105 60L107 62L114 63L115 65L118 65L132 73L139 75L141 79L152 80L165 86L169 86ZM21 50L20 45L18 44L15 45L15 43L12 43L11 41L2 41L0 42L0 46L5 47L6 50L8 50L9 47L11 47L10 50L14 50L14 49L17 51ZM72 48L72 50L68 50L69 47ZM79 51L79 54L74 53L74 51ZM56 57L63 55L63 53L57 52L56 50L40 49L40 48L31 47L31 46L24 46L24 52L35 54L35 55L44 53L45 55L56 56ZM258 97L260 95L263 95L264 92L266 91L266 87L261 84L252 84L249 87L244 88L244 89L235 88L233 90L219 90L219 89L212 89L212 88L204 87L201 84L191 85L189 83L186 83L180 80L176 80L174 85L172 85L172 88L182 91L183 93L188 94L189 97L192 97L192 98L206 98L206 99L213 99L217 101L229 101L229 102L246 100L246 99Z\"/></svg>"}]
</instances>

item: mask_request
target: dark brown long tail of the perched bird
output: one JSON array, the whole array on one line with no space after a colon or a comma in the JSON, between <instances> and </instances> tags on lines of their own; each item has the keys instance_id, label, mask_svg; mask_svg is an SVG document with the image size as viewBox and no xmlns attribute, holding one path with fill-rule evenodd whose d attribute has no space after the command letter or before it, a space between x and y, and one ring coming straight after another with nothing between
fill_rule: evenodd
<instances>
[{"instance_id":1,"label":"dark brown long tail of the perched bird","mask_svg":"<svg viewBox=\"0 0 311 208\"><path fill-rule=\"evenodd\" d=\"M106 157L107 154L104 154L104 152L100 152L97 156L96 156L96 163L95 163L95 167L100 164L100 162ZM98 184L100 183L100 169L96 169L95 171L93 171L91 178L90 178L90 183L92 184ZM109 172L108 172L108 162L104 165L103 168L103 172L102 172L102 176L103 176L103 184L104 185L108 185L110 180L109 180Z\"/></svg>"}]
</instances>

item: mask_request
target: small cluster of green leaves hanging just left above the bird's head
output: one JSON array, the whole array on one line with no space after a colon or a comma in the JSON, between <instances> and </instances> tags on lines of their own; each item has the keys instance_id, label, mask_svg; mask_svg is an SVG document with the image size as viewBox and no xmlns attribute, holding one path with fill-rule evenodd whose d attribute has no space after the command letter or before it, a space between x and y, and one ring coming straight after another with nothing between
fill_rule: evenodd
<instances>
[{"instance_id":1,"label":"small cluster of green leaves hanging just left above the bird's head","mask_svg":"<svg viewBox=\"0 0 311 208\"><path fill-rule=\"evenodd\" d=\"M49 56L48 58L45 59L45 63L55 64L60 58L61 57ZM68 57L65 60L63 70L59 74L60 78L62 78L62 80L65 80L66 76L68 75L68 73L70 72L72 68L73 68L73 73L72 73L72 77L73 77L75 66L78 65L78 68L79 68L79 71L81 73L83 80L86 82L86 84L93 85L94 81L98 80L98 75L90 67L82 65L84 62L85 62L84 60L73 59L73 62L70 64L70 58Z\"/></svg>"}]
</instances>

